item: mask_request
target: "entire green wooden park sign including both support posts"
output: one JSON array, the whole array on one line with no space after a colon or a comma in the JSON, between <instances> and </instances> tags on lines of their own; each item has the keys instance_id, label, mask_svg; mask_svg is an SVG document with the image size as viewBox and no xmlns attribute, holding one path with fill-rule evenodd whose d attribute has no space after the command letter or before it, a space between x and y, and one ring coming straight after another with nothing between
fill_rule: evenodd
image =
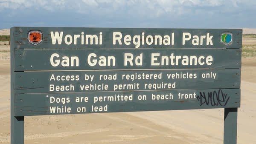
<instances>
[{"instance_id":1,"label":"entire green wooden park sign including both support posts","mask_svg":"<svg viewBox=\"0 0 256 144\"><path fill-rule=\"evenodd\" d=\"M11 143L24 116L224 108L236 144L241 29L13 27Z\"/></svg>"}]
</instances>

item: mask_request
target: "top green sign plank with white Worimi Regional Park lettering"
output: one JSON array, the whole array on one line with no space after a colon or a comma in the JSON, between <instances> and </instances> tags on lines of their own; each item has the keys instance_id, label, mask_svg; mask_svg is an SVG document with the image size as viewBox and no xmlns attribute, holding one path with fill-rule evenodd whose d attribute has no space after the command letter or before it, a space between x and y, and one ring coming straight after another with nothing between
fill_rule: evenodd
<instances>
[{"instance_id":1,"label":"top green sign plank with white Worimi Regional Park lettering","mask_svg":"<svg viewBox=\"0 0 256 144\"><path fill-rule=\"evenodd\" d=\"M18 34L13 35L15 49L240 49L242 44L241 29L15 27L13 31ZM29 37L29 32L35 36ZM232 35L228 45L222 41L227 33Z\"/></svg>"}]
</instances>

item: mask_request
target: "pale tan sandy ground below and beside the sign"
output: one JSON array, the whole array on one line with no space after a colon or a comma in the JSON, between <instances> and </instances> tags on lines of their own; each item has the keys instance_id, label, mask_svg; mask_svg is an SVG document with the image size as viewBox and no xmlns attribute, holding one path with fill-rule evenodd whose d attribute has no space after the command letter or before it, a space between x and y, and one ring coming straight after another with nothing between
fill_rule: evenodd
<instances>
[{"instance_id":1,"label":"pale tan sandy ground below and beside the sign","mask_svg":"<svg viewBox=\"0 0 256 144\"><path fill-rule=\"evenodd\" d=\"M9 47L0 46L0 50ZM0 144L10 143L10 59L0 52ZM256 58L242 58L238 144L256 144ZM25 144L222 144L224 109L25 117Z\"/></svg>"}]
</instances>

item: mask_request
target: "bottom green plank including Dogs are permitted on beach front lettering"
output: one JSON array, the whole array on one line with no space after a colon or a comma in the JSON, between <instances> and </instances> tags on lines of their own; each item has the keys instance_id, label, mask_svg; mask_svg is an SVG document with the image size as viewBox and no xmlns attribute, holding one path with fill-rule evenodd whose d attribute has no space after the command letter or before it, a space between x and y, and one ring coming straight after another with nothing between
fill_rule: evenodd
<instances>
[{"instance_id":1,"label":"bottom green plank including Dogs are permitted on beach front lettering","mask_svg":"<svg viewBox=\"0 0 256 144\"><path fill-rule=\"evenodd\" d=\"M240 107L240 89L20 94L14 96L15 116Z\"/></svg>"}]
</instances>

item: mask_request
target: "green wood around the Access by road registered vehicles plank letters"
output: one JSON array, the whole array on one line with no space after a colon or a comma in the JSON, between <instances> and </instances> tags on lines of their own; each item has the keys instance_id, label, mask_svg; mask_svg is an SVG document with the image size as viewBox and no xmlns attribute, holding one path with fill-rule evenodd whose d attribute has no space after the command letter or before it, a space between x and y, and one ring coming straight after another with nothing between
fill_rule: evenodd
<instances>
[{"instance_id":1,"label":"green wood around the Access by road registered vehicles plank letters","mask_svg":"<svg viewBox=\"0 0 256 144\"><path fill-rule=\"evenodd\" d=\"M211 74L212 78L202 78L202 74ZM213 74L215 73L215 79ZM155 75L156 79L148 77L143 79L145 75ZM168 74L175 75L174 79L168 78ZM176 77L178 74L178 78ZM180 74L185 75L185 78L180 78ZM85 80L85 75L88 80ZM101 76L102 75L102 76ZM104 80L103 75L111 78L116 76L116 80ZM128 75L129 80L123 75ZM140 79L131 80L131 75L134 78L140 75ZM169 76L170 76L169 75ZM189 75L191 76L189 78ZM196 78L194 76L196 75ZM57 76L58 80L57 80ZM73 80L72 77L73 76ZM93 76L93 80L89 76ZM63 78L63 80L60 79ZM76 81L78 77L78 81ZM144 76L145 77L145 76ZM67 79L69 81L67 81ZM124 79L123 79L124 78ZM161 78L161 79L159 79ZM50 81L51 80L51 81ZM92 82L91 82L92 81ZM122 91L113 89L114 85L119 84L140 84L136 90L152 90L145 89L144 84L161 84L175 82L175 88L172 89L227 89L240 88L240 69L184 69L184 70L122 70L122 71L67 71L67 72L16 72L15 77L15 94L20 93L56 93L61 91L49 91L49 84L55 86L67 86L72 84L75 89L73 91L64 92L99 92L99 91ZM81 90L80 85L90 84L107 84L108 90ZM165 88L168 89L168 88ZM159 89L158 89L159 90Z\"/></svg>"}]
</instances>

